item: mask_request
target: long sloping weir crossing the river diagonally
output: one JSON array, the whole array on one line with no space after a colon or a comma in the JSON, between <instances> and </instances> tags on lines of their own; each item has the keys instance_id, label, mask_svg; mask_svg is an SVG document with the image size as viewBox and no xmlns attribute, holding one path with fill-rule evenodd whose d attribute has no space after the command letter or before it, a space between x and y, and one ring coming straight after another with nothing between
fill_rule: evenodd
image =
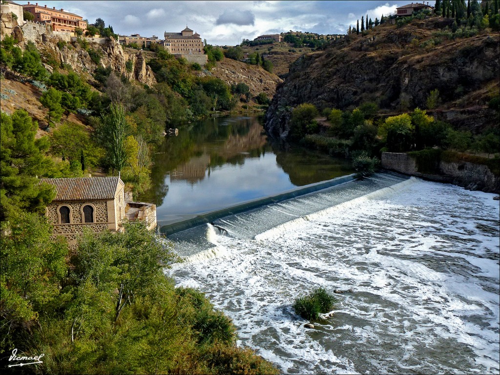
<instances>
[{"instance_id":1,"label":"long sloping weir crossing the river diagonally","mask_svg":"<svg viewBox=\"0 0 500 375\"><path fill-rule=\"evenodd\" d=\"M416 179L383 172L361 180L354 180L349 175L326 182L333 181L337 183L330 186L323 184L323 188L317 188L322 184L319 183L279 194L282 196L280 200L273 201L275 197L268 197L249 202L248 205L240 204L236 207L238 212L234 212L234 207L210 212L196 218L199 224L191 222L191 227L172 232L167 238L174 242L175 251L187 261L212 258L225 253L225 248L220 243L224 236L240 240L264 239L268 231L279 231L284 226L297 225L300 220L308 220L312 215L321 215L323 211L355 204L360 199L379 197ZM295 196L286 198L286 194L290 193Z\"/></svg>"}]
</instances>

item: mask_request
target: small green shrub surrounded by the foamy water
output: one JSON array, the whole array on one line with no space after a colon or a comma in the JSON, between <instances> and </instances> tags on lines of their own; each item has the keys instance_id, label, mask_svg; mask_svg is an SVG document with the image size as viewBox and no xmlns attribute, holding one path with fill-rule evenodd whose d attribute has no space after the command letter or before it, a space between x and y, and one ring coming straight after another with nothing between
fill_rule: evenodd
<instances>
[{"instance_id":1,"label":"small green shrub surrounded by the foamy water","mask_svg":"<svg viewBox=\"0 0 500 375\"><path fill-rule=\"evenodd\" d=\"M331 310L335 297L322 286L313 287L305 296L295 298L293 309L304 319L315 320Z\"/></svg>"}]
</instances>

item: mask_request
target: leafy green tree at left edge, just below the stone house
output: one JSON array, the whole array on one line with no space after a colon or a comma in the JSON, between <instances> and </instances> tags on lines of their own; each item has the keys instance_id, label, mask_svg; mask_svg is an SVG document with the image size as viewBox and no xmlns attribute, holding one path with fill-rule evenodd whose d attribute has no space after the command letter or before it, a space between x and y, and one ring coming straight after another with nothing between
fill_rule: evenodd
<instances>
[{"instance_id":1,"label":"leafy green tree at left edge, just below the stone house","mask_svg":"<svg viewBox=\"0 0 500 375\"><path fill-rule=\"evenodd\" d=\"M45 217L21 212L7 225L2 225L8 234L2 233L0 241L2 351L15 347L25 334L23 328L57 304L68 253L64 241L50 240L51 225Z\"/></svg>"}]
</instances>

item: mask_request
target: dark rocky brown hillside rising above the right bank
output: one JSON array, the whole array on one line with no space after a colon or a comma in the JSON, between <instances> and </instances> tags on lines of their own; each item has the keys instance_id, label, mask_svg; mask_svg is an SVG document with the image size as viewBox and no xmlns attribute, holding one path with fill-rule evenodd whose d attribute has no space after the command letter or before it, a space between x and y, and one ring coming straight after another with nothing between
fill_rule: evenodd
<instances>
[{"instance_id":1,"label":"dark rocky brown hillside rising above the right bank","mask_svg":"<svg viewBox=\"0 0 500 375\"><path fill-rule=\"evenodd\" d=\"M301 56L276 90L267 129L281 135L288 127L286 107L303 102L352 109L371 101L396 114L426 108L435 88L440 105L431 114L476 132L494 125L487 102L498 93L500 37L486 31L457 37L443 29L448 23L432 17L402 27L384 24Z\"/></svg>"}]
</instances>

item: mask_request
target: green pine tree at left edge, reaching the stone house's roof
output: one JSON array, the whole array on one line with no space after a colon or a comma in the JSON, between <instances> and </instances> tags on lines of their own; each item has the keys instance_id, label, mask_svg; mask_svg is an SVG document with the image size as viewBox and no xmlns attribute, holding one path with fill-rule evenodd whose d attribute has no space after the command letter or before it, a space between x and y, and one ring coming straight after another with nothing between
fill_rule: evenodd
<instances>
[{"instance_id":1,"label":"green pine tree at left edge, reaching the stone house's roof","mask_svg":"<svg viewBox=\"0 0 500 375\"><path fill-rule=\"evenodd\" d=\"M0 134L0 221L19 209L40 212L54 195L48 185L38 185L49 159L44 156L46 143L35 141L37 123L23 109L12 116L1 112Z\"/></svg>"}]
</instances>

